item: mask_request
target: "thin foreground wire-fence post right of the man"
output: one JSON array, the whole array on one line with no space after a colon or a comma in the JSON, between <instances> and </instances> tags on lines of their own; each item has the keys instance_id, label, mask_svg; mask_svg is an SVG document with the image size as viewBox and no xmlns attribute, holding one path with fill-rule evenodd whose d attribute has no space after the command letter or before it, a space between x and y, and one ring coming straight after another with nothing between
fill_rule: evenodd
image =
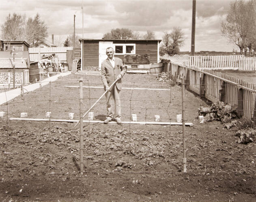
<instances>
[{"instance_id":1,"label":"thin foreground wire-fence post right of the man","mask_svg":"<svg viewBox=\"0 0 256 202\"><path fill-rule=\"evenodd\" d=\"M187 159L186 159L186 137L185 137L185 79L182 79L181 86L181 101L182 101L182 131L183 131L183 172L187 173Z\"/></svg>"}]
</instances>

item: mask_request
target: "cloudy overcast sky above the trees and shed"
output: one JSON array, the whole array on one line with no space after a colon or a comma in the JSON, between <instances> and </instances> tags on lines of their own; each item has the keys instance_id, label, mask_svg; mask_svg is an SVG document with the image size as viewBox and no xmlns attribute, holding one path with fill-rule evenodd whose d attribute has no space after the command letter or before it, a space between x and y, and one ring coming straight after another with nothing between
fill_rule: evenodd
<instances>
[{"instance_id":1,"label":"cloudy overcast sky above the trees and shed","mask_svg":"<svg viewBox=\"0 0 256 202\"><path fill-rule=\"evenodd\" d=\"M48 26L49 40L52 34L56 44L75 32L82 38L82 0L0 0L0 24L11 13L34 17L39 13ZM195 50L232 51L236 46L228 44L221 36L221 22L225 20L230 0L196 1ZM129 28L145 34L155 32L162 39L163 32L181 27L185 43L181 51L191 47L192 0L84 0L84 38L100 39L115 28Z\"/></svg>"}]
</instances>

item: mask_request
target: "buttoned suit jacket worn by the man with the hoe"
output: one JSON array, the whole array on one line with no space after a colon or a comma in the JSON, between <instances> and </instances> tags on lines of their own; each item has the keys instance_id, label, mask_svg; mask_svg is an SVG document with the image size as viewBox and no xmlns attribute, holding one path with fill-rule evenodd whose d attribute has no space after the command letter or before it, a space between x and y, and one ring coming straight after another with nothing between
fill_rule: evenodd
<instances>
[{"instance_id":1,"label":"buttoned suit jacket worn by the man with the hoe","mask_svg":"<svg viewBox=\"0 0 256 202\"><path fill-rule=\"evenodd\" d=\"M101 80L104 84L104 89L105 86L110 86L117 78L118 74L121 74L122 77L125 75L126 73L126 68L123 65L123 61L118 58L115 57L115 67L113 68L109 59L105 59L102 63L101 63ZM116 82L116 87L118 90L121 90L122 88L122 79L119 79Z\"/></svg>"}]
</instances>

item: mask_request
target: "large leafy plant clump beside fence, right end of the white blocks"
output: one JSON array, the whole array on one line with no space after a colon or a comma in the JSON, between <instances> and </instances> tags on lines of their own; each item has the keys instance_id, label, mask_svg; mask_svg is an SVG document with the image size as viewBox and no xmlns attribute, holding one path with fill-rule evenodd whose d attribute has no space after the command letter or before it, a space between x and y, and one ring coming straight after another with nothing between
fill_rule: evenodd
<instances>
[{"instance_id":1,"label":"large leafy plant clump beside fence, right end of the white blocks","mask_svg":"<svg viewBox=\"0 0 256 202\"><path fill-rule=\"evenodd\" d=\"M218 101L212 103L211 107L200 107L198 114L204 116L204 121L220 120L223 123L228 123L231 119L237 118L236 109L236 106Z\"/></svg>"}]
</instances>

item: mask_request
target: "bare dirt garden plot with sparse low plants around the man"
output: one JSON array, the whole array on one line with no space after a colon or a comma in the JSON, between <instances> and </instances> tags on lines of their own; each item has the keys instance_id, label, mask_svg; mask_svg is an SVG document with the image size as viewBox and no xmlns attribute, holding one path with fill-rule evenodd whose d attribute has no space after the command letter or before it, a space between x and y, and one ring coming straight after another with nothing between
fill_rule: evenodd
<instances>
[{"instance_id":1,"label":"bare dirt garden plot with sparse low plants around the man","mask_svg":"<svg viewBox=\"0 0 256 202\"><path fill-rule=\"evenodd\" d=\"M8 118L79 117L80 76L70 75L0 111ZM100 77L83 76L84 86L102 86ZM86 83L87 82L87 83ZM127 74L123 87L170 88L154 75ZM123 89L122 120L175 122L181 114L181 87ZM84 88L84 112L103 94ZM171 101L171 102L170 102ZM0 122L1 201L255 201L256 145L237 143L234 128L220 122L200 124L198 108L207 106L185 92L187 173L182 172L182 126L84 123L84 175L79 172L79 127L67 122ZM105 99L92 110L104 120ZM88 119L88 116L85 118Z\"/></svg>"}]
</instances>

